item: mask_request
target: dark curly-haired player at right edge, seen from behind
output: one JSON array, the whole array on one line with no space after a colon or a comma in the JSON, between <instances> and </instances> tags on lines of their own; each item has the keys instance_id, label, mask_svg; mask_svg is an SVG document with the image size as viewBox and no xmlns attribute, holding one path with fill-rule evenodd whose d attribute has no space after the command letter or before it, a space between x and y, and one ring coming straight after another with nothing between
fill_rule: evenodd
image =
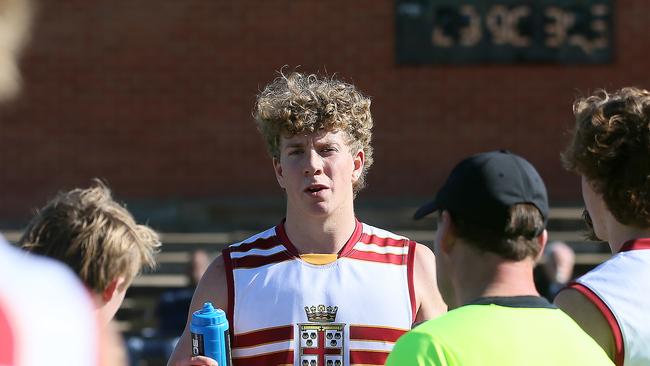
<instances>
[{"instance_id":1,"label":"dark curly-haired player at right edge, seen from behind","mask_svg":"<svg viewBox=\"0 0 650 366\"><path fill-rule=\"evenodd\" d=\"M623 88L580 99L563 154L582 177L588 223L614 256L555 302L617 365L650 364L650 92Z\"/></svg>"}]
</instances>

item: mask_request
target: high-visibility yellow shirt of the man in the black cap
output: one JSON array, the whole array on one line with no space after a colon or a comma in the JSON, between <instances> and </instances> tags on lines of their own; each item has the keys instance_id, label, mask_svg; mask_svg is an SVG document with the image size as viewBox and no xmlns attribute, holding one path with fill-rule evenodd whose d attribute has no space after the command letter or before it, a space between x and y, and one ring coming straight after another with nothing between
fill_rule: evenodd
<instances>
[{"instance_id":1,"label":"high-visibility yellow shirt of the man in the black cap","mask_svg":"<svg viewBox=\"0 0 650 366\"><path fill-rule=\"evenodd\" d=\"M534 296L483 298L429 320L395 344L388 366L613 365L562 310Z\"/></svg>"}]
</instances>

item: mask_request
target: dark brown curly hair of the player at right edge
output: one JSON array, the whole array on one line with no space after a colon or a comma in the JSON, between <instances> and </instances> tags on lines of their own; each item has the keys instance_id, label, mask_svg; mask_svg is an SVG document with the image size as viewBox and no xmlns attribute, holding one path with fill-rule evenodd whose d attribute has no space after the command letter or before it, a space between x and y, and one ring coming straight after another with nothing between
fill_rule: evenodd
<instances>
[{"instance_id":1,"label":"dark brown curly hair of the player at right edge","mask_svg":"<svg viewBox=\"0 0 650 366\"><path fill-rule=\"evenodd\" d=\"M622 224L650 227L650 92L599 90L573 104L564 166L583 175Z\"/></svg>"}]
</instances>

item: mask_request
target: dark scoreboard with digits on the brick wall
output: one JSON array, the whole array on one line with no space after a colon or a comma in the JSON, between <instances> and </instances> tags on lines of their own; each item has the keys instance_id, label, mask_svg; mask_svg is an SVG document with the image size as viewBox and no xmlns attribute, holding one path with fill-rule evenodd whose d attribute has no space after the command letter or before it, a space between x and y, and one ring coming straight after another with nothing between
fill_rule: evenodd
<instances>
[{"instance_id":1,"label":"dark scoreboard with digits on the brick wall","mask_svg":"<svg viewBox=\"0 0 650 366\"><path fill-rule=\"evenodd\" d=\"M607 63L613 1L395 0L397 63Z\"/></svg>"}]
</instances>

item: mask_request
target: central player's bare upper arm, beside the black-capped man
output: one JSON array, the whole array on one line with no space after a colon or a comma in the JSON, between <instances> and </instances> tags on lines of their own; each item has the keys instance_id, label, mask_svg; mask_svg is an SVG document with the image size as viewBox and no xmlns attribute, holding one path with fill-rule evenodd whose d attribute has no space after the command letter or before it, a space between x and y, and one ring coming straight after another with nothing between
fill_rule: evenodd
<instances>
[{"instance_id":1,"label":"central player's bare upper arm, beside the black-capped man","mask_svg":"<svg viewBox=\"0 0 650 366\"><path fill-rule=\"evenodd\" d=\"M437 317L447 311L436 282L436 257L422 244L415 247L413 268L417 315L415 324Z\"/></svg>"}]
</instances>

